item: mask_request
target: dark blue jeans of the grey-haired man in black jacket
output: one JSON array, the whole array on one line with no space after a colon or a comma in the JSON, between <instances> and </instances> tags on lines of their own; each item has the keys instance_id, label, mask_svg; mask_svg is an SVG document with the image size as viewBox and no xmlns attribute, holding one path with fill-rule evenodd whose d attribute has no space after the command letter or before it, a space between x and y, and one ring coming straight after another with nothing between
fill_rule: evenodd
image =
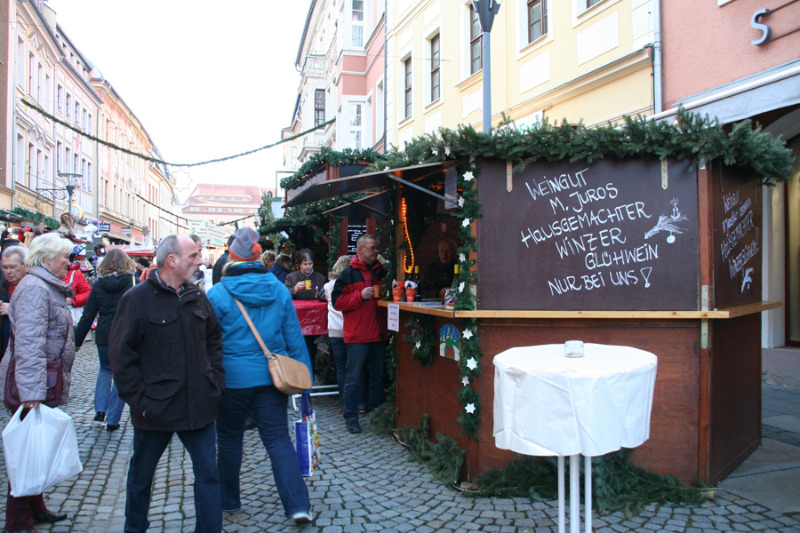
<instances>
[{"instance_id":1,"label":"dark blue jeans of the grey-haired man in black jacket","mask_svg":"<svg viewBox=\"0 0 800 533\"><path fill-rule=\"evenodd\" d=\"M222 531L217 453L214 424L187 431L149 431L133 428L133 456L128 469L128 496L125 502L125 532L147 531L150 521L150 490L158 460L177 433L192 458L194 472L195 533Z\"/></svg>"}]
</instances>

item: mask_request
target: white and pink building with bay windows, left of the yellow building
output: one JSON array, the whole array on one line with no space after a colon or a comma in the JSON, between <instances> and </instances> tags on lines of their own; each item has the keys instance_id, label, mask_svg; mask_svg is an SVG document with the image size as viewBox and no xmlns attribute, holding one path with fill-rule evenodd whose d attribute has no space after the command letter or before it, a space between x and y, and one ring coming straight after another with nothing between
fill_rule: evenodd
<instances>
[{"instance_id":1,"label":"white and pink building with bay windows, left of the yellow building","mask_svg":"<svg viewBox=\"0 0 800 533\"><path fill-rule=\"evenodd\" d=\"M298 99L283 137L336 121L286 143L287 170L299 168L323 146L383 150L384 36L383 0L311 2L295 61Z\"/></svg>"}]
</instances>

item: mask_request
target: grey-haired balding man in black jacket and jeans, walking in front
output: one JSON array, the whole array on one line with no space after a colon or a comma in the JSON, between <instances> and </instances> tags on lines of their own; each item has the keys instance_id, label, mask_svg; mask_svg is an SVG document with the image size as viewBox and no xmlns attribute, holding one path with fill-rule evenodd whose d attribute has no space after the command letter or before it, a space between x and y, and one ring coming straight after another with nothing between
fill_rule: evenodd
<instances>
[{"instance_id":1,"label":"grey-haired balding man in black jacket and jeans, walking in front","mask_svg":"<svg viewBox=\"0 0 800 533\"><path fill-rule=\"evenodd\" d=\"M158 246L158 270L129 290L111 326L117 391L133 422L125 531L145 531L158 461L177 432L192 458L196 531L222 530L214 421L225 372L222 331L203 291L189 283L202 262L184 235Z\"/></svg>"}]
</instances>

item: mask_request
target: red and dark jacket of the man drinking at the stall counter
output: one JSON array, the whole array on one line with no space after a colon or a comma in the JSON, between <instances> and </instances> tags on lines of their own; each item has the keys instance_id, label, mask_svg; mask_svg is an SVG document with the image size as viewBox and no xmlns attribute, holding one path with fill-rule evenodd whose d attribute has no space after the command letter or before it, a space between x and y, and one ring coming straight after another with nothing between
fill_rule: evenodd
<instances>
[{"instance_id":1,"label":"red and dark jacket of the man drinking at the stall counter","mask_svg":"<svg viewBox=\"0 0 800 533\"><path fill-rule=\"evenodd\" d=\"M361 290L383 282L384 270L375 261L367 265L354 258L333 284L331 300L333 308L344 317L344 342L365 343L382 341L385 337L385 313L380 312L378 300L363 300Z\"/></svg>"}]
</instances>

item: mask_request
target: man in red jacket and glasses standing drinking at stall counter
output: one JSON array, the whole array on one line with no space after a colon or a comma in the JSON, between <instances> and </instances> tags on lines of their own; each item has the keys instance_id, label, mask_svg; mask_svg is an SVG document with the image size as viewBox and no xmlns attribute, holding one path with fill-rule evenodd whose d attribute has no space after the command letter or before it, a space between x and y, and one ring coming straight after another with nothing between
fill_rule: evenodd
<instances>
[{"instance_id":1,"label":"man in red jacket and glasses standing drinking at stall counter","mask_svg":"<svg viewBox=\"0 0 800 533\"><path fill-rule=\"evenodd\" d=\"M369 365L369 407L383 403L383 364L386 355L385 328L378 319L378 300L372 286L383 282L384 270L377 261L378 240L365 233L356 241L356 257L333 284L333 307L344 317L347 378L344 385L344 420L347 431L361 433L358 425L358 381Z\"/></svg>"}]
</instances>

